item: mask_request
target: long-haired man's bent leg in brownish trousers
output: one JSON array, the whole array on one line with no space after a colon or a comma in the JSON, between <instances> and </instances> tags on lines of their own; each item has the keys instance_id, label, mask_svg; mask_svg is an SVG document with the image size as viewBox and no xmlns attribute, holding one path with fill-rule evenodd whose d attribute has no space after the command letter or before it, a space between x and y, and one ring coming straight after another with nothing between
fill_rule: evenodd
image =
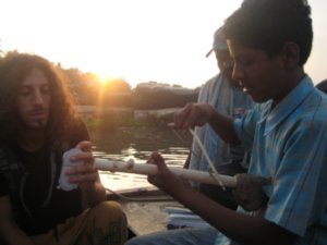
<instances>
[{"instance_id":1,"label":"long-haired man's bent leg in brownish trousers","mask_svg":"<svg viewBox=\"0 0 327 245\"><path fill-rule=\"evenodd\" d=\"M126 217L120 205L104 201L32 238L36 245L123 245L126 237Z\"/></svg>"}]
</instances>

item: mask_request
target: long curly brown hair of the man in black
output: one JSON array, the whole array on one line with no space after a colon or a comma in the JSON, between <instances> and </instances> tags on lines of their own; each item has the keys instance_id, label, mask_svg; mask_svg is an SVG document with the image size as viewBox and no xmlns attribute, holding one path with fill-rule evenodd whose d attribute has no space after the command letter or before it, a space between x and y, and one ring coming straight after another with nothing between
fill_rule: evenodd
<instances>
[{"instance_id":1,"label":"long curly brown hair of the man in black","mask_svg":"<svg viewBox=\"0 0 327 245\"><path fill-rule=\"evenodd\" d=\"M66 83L48 60L28 53L11 52L0 62L0 140L15 142L19 137L17 93L24 77L39 69L49 81L51 105L47 136L61 139L81 121Z\"/></svg>"}]
</instances>

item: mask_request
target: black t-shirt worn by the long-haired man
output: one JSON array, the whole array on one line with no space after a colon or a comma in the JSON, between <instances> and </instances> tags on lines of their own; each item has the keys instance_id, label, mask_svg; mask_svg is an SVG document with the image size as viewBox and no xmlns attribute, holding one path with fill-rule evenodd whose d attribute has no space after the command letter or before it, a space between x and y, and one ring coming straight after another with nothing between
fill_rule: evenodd
<instances>
[{"instance_id":1,"label":"black t-shirt worn by the long-haired man","mask_svg":"<svg viewBox=\"0 0 327 245\"><path fill-rule=\"evenodd\" d=\"M83 125L71 132L64 144L68 149L75 147L81 140L89 139L86 127ZM19 145L10 148L16 160L23 163L25 176L20 183L20 200L16 210L16 223L27 235L41 234L55 224L62 223L70 217L82 211L82 196L80 189L65 192L58 188L58 181L62 166L62 146L55 150L52 144L28 152ZM51 170L51 155L55 169ZM52 186L51 186L52 180ZM0 175L0 196L10 194L10 185Z\"/></svg>"}]
</instances>

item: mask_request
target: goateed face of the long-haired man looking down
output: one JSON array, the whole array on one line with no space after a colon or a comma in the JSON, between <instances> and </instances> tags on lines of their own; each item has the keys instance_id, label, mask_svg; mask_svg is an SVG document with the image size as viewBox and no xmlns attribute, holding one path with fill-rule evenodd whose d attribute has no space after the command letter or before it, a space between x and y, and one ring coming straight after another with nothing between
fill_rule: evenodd
<instances>
[{"instance_id":1,"label":"goateed face of the long-haired man looking down","mask_svg":"<svg viewBox=\"0 0 327 245\"><path fill-rule=\"evenodd\" d=\"M23 128L45 128L50 108L50 88L45 74L32 70L22 81L17 94L17 111Z\"/></svg>"}]
</instances>

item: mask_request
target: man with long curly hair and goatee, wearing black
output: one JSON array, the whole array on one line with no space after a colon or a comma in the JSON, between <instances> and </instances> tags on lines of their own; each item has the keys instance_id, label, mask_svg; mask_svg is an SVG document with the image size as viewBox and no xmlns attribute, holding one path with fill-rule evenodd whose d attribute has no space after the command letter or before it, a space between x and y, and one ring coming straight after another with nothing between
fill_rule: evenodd
<instances>
[{"instance_id":1,"label":"man with long curly hair and goatee, wearing black","mask_svg":"<svg viewBox=\"0 0 327 245\"><path fill-rule=\"evenodd\" d=\"M0 242L123 244L126 218L93 167L92 144L59 71L9 53L0 63ZM80 151L62 170L62 155ZM80 162L81 164L77 164ZM71 188L58 186L60 175Z\"/></svg>"}]
</instances>

